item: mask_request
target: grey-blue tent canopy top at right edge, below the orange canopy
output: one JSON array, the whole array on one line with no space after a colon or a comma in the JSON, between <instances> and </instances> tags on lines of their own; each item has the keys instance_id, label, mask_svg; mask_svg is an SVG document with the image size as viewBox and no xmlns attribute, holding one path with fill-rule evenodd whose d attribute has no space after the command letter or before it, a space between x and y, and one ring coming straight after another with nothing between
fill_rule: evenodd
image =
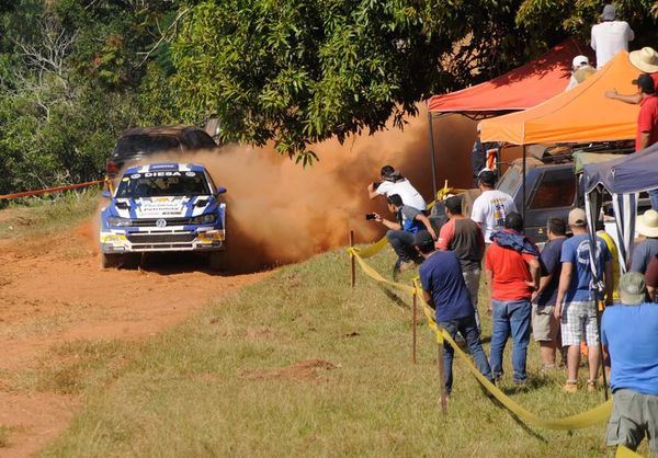
<instances>
[{"instance_id":1,"label":"grey-blue tent canopy top at right edge, below the orange canopy","mask_svg":"<svg viewBox=\"0 0 658 458\"><path fill-rule=\"evenodd\" d=\"M585 165L582 182L586 192L599 184L611 194L639 193L658 187L658 144L633 154L601 163Z\"/></svg>"}]
</instances>

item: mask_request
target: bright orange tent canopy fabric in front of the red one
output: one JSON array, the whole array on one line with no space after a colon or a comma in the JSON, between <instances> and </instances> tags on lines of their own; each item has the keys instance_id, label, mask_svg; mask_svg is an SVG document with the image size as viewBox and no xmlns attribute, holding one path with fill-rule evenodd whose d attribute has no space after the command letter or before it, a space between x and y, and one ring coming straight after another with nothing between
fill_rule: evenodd
<instances>
[{"instance_id":1,"label":"bright orange tent canopy fabric in front of the red one","mask_svg":"<svg viewBox=\"0 0 658 458\"><path fill-rule=\"evenodd\" d=\"M479 123L481 141L513 145L588 142L635 138L638 105L605 98L605 91L634 94L640 71L619 53L586 81L524 112Z\"/></svg>"}]
</instances>

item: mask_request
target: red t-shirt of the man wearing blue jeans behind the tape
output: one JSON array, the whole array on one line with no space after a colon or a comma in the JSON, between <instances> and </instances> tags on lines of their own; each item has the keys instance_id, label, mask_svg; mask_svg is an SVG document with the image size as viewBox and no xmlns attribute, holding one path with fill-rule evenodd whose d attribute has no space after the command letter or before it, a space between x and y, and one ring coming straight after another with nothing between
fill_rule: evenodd
<instances>
[{"instance_id":1,"label":"red t-shirt of the man wearing blue jeans behind the tape","mask_svg":"<svg viewBox=\"0 0 658 458\"><path fill-rule=\"evenodd\" d=\"M485 254L485 268L492 277L491 299L530 299L532 289L525 282L532 282L527 265L536 256L491 243Z\"/></svg>"}]
</instances>

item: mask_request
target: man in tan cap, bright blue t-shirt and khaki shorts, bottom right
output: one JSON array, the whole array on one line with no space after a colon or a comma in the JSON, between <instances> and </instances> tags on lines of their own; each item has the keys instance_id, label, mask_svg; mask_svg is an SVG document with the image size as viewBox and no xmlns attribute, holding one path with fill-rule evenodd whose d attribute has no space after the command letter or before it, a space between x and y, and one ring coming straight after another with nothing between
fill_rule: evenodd
<instances>
[{"instance_id":1,"label":"man in tan cap, bright blue t-shirt and khaki shorts, bottom right","mask_svg":"<svg viewBox=\"0 0 658 458\"><path fill-rule=\"evenodd\" d=\"M637 272L620 280L622 304L609 307L601 337L612 358L612 415L608 445L637 449L645 435L658 455L658 306L645 301L645 283Z\"/></svg>"}]
</instances>

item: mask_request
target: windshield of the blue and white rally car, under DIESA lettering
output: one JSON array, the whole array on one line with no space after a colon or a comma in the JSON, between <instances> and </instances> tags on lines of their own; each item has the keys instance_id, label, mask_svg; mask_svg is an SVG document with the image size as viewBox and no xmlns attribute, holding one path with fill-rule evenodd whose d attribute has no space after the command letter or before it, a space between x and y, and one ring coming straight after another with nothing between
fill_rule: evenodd
<instances>
[{"instance_id":1,"label":"windshield of the blue and white rally car, under DIESA lettering","mask_svg":"<svg viewBox=\"0 0 658 458\"><path fill-rule=\"evenodd\" d=\"M116 197L194 196L212 194L201 172L147 172L126 174L121 179Z\"/></svg>"}]
</instances>

